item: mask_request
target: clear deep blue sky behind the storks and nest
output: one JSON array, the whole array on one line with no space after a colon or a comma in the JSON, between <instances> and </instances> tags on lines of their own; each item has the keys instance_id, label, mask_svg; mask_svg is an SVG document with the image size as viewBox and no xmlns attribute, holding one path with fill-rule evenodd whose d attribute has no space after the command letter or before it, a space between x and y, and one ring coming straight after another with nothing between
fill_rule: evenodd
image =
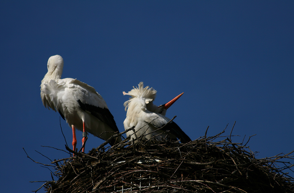
<instances>
[{"instance_id":1,"label":"clear deep blue sky behind the storks and nest","mask_svg":"<svg viewBox=\"0 0 294 193\"><path fill-rule=\"evenodd\" d=\"M233 142L257 158L294 149L294 1L1 1L0 188L31 192L51 180L48 158L62 159L58 113L45 109L40 84L50 56L62 78L77 78L105 99L120 131L122 94L140 81L192 140L236 121ZM61 119L70 145L72 132ZM77 132L81 146L81 132ZM89 136L86 152L103 141ZM291 174L293 176L293 174ZM56 180L56 179L55 179ZM39 192L44 192L41 189Z\"/></svg>"}]
</instances>

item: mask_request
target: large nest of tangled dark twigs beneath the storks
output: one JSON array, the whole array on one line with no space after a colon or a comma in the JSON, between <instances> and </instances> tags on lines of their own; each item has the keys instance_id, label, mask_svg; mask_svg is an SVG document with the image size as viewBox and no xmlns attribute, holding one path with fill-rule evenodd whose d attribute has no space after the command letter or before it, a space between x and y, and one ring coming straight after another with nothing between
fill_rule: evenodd
<instances>
[{"instance_id":1,"label":"large nest of tangled dark twigs beneath the storks","mask_svg":"<svg viewBox=\"0 0 294 193\"><path fill-rule=\"evenodd\" d=\"M221 136L224 131L185 144L126 139L105 148L106 141L87 154L53 161L58 180L51 174L52 181L40 188L51 193L294 192L294 179L286 173L293 172L293 152L256 159L248 142L233 143L231 136Z\"/></svg>"}]
</instances>

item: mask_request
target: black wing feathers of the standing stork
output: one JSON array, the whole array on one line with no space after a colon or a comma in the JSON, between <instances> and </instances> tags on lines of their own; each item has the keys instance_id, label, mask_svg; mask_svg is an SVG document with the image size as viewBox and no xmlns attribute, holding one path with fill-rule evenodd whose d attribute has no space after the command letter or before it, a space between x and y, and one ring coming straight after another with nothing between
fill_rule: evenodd
<instances>
[{"instance_id":1,"label":"black wing feathers of the standing stork","mask_svg":"<svg viewBox=\"0 0 294 193\"><path fill-rule=\"evenodd\" d=\"M78 103L83 111L90 112L91 115L97 117L99 120L103 121L108 126L110 126L113 129L113 131L119 133L113 115L110 113L109 109L102 109L94 105L84 104L80 101L80 99L78 100Z\"/></svg>"}]
</instances>

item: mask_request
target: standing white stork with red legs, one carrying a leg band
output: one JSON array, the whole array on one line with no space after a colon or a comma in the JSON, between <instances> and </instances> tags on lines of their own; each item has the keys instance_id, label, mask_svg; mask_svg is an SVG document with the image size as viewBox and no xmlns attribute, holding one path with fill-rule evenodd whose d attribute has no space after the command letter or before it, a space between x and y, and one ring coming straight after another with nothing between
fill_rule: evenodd
<instances>
[{"instance_id":1,"label":"standing white stork with red legs, one carrying a leg band","mask_svg":"<svg viewBox=\"0 0 294 193\"><path fill-rule=\"evenodd\" d=\"M83 131L83 143L87 132L104 140L119 133L106 102L93 87L77 79L60 79L63 70L61 56L51 56L47 68L48 72L40 86L42 102L49 110L58 111L72 128L74 151L77 144L75 129ZM114 145L120 141L121 137L118 137L109 144Z\"/></svg>"}]
</instances>

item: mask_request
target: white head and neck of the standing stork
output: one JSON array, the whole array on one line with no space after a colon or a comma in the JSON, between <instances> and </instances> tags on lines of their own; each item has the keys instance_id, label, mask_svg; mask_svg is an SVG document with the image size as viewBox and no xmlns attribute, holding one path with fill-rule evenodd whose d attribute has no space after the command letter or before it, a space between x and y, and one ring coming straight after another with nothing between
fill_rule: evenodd
<instances>
[{"instance_id":1,"label":"white head and neck of the standing stork","mask_svg":"<svg viewBox=\"0 0 294 193\"><path fill-rule=\"evenodd\" d=\"M53 80L60 79L63 70L63 59L59 55L51 56L47 63L48 76Z\"/></svg>"}]
</instances>

